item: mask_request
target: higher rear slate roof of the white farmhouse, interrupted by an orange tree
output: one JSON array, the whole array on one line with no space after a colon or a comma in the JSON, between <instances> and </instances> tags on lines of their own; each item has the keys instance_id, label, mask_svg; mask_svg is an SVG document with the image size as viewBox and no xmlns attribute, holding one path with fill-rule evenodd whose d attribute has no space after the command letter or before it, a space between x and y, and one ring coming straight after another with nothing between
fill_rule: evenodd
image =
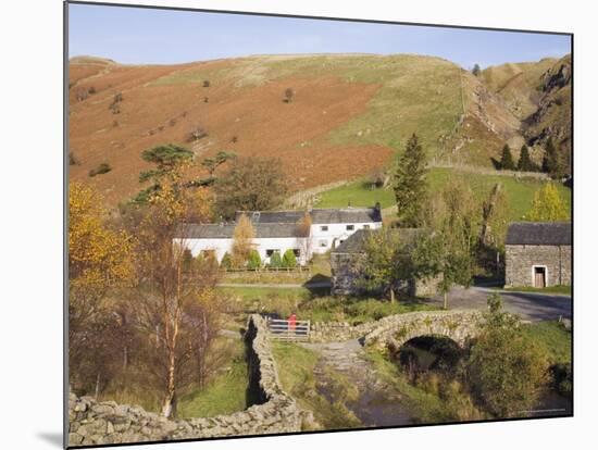
<instances>
[{"instance_id":1,"label":"higher rear slate roof of the white farmhouse, interrupted by an orange tree","mask_svg":"<svg viewBox=\"0 0 598 450\"><path fill-rule=\"evenodd\" d=\"M309 211L313 224L362 224L382 222L381 211L376 208L312 209ZM253 223L292 223L299 222L303 211L238 211L235 220L246 214Z\"/></svg>"}]
</instances>

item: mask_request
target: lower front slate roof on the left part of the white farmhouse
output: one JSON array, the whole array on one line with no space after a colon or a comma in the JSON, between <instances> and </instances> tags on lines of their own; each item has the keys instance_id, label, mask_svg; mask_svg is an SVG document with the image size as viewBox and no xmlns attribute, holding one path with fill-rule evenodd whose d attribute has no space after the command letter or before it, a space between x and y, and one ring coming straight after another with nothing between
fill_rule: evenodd
<instances>
[{"instance_id":1,"label":"lower front slate roof on the left part of the white farmhouse","mask_svg":"<svg viewBox=\"0 0 598 450\"><path fill-rule=\"evenodd\" d=\"M231 239L236 224L184 224L176 233L178 239ZM295 223L253 224L256 238L298 237Z\"/></svg>"}]
</instances>

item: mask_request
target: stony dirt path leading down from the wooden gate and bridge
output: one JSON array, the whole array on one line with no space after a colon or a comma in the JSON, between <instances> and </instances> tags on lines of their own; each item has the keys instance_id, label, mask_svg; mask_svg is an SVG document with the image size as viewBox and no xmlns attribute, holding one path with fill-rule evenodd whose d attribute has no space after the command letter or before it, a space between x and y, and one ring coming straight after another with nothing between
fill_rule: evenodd
<instances>
[{"instance_id":1,"label":"stony dirt path leading down from the wooden gate and bridge","mask_svg":"<svg viewBox=\"0 0 598 450\"><path fill-rule=\"evenodd\" d=\"M401 402L400 396L383 384L365 359L361 343L354 340L329 343L301 343L322 355L314 370L314 376L326 386L329 370L346 376L358 388L359 397L349 401L347 408L362 422L363 426L397 426L413 423ZM322 392L326 395L326 392Z\"/></svg>"}]
</instances>

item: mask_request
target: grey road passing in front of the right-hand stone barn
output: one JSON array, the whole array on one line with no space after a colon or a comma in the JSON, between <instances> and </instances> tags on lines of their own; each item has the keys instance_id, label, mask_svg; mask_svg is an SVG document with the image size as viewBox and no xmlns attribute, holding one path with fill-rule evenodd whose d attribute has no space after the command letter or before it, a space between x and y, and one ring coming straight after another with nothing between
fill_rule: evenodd
<instances>
[{"instance_id":1,"label":"grey road passing in front of the right-hand stone barn","mask_svg":"<svg viewBox=\"0 0 598 450\"><path fill-rule=\"evenodd\" d=\"M571 318L572 300L570 296L515 292L479 286L472 286L469 289L453 288L449 293L449 308L486 310L488 296L495 292L499 292L502 297L502 305L506 311L519 314L524 320L536 322L558 320L559 317ZM436 296L431 301L443 303L443 297Z\"/></svg>"}]
</instances>

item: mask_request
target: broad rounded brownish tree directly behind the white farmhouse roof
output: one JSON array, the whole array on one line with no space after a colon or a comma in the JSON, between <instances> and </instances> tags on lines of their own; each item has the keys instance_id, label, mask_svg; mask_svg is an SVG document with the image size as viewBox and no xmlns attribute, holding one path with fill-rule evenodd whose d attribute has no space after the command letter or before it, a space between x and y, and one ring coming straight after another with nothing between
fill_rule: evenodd
<instances>
[{"instance_id":1,"label":"broad rounded brownish tree directly behind the white farmhouse roof","mask_svg":"<svg viewBox=\"0 0 598 450\"><path fill-rule=\"evenodd\" d=\"M237 158L214 184L215 209L231 220L237 211L262 211L277 207L286 196L287 180L281 160Z\"/></svg>"}]
</instances>

